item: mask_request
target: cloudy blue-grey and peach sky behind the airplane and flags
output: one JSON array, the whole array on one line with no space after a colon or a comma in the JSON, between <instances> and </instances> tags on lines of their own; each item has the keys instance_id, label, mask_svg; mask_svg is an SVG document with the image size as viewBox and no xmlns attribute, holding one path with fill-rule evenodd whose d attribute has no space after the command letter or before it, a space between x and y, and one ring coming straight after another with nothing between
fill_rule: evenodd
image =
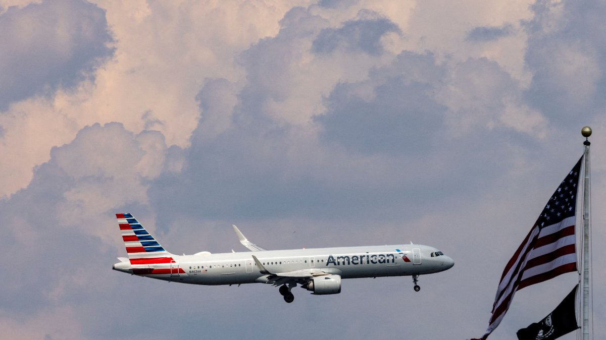
<instances>
[{"instance_id":1,"label":"cloudy blue-grey and peach sky behind the airplane and flags","mask_svg":"<svg viewBox=\"0 0 606 340\"><path fill-rule=\"evenodd\" d=\"M2 338L482 336L585 125L603 338L605 23L599 0L0 0ZM118 212L176 254L247 251L236 224L267 249L413 241L455 265L285 304L112 270ZM520 290L489 339L577 280Z\"/></svg>"}]
</instances>

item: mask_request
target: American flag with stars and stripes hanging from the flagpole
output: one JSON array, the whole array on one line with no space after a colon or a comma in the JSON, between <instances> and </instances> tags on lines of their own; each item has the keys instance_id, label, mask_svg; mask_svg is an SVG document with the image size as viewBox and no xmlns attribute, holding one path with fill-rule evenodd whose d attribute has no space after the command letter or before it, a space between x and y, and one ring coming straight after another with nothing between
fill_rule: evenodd
<instances>
[{"instance_id":1,"label":"American flag with stars and stripes hanging from the flagpole","mask_svg":"<svg viewBox=\"0 0 606 340\"><path fill-rule=\"evenodd\" d=\"M517 290L577 270L574 214L582 159L551 195L532 229L505 266L482 339L488 338L499 325Z\"/></svg>"}]
</instances>

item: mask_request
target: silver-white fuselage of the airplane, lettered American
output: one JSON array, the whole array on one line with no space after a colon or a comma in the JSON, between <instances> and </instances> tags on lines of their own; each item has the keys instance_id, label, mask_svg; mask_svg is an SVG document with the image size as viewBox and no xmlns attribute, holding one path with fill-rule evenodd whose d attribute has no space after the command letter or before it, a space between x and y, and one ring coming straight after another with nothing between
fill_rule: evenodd
<instances>
[{"instance_id":1,"label":"silver-white fuselage of the airplane, lettered American","mask_svg":"<svg viewBox=\"0 0 606 340\"><path fill-rule=\"evenodd\" d=\"M117 263L115 270L149 276L160 280L189 284L267 283L252 255L271 273L296 273L321 270L341 278L422 275L442 272L454 265L438 250L419 244L393 246L334 247L316 249L262 250L255 252L172 255L173 261L154 264L159 273L145 272L147 265ZM436 256L433 256L436 255ZM160 269L160 270L158 270ZM168 269L168 270L167 270Z\"/></svg>"}]
</instances>

